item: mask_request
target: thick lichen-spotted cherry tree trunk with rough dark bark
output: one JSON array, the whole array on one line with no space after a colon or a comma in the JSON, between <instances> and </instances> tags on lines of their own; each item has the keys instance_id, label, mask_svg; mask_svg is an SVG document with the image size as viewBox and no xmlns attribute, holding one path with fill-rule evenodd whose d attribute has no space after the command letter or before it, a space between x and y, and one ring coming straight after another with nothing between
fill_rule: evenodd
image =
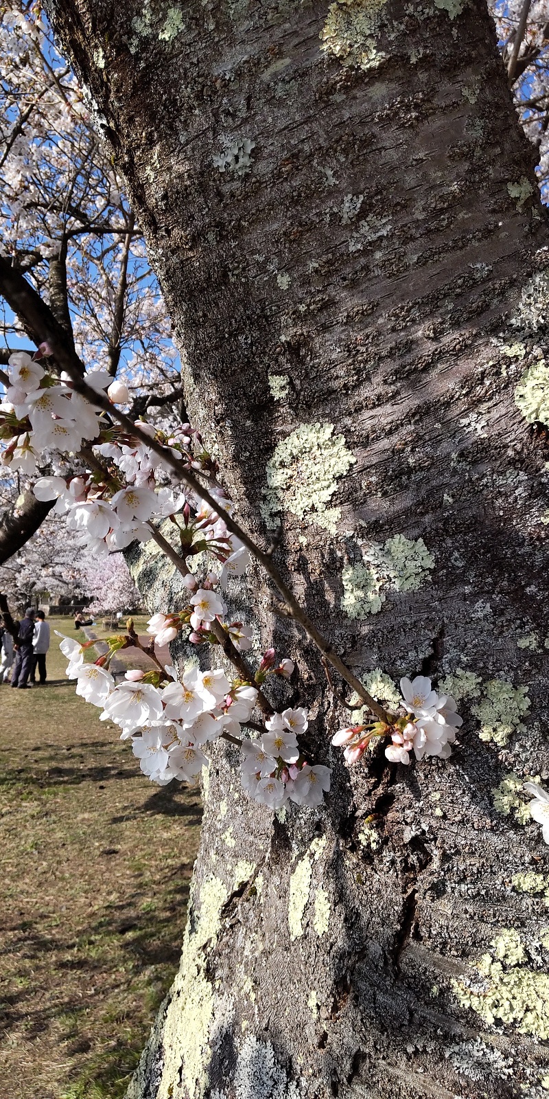
<instances>
[{"instance_id":1,"label":"thick lichen-spotted cherry tree trunk with rough dark bark","mask_svg":"<svg viewBox=\"0 0 549 1099\"><path fill-rule=\"evenodd\" d=\"M240 521L262 544L280 521L279 566L357 674L423 673L464 717L448 762L348 769L314 647L259 573L235 584L256 655L296 662L272 698L310 708L332 791L272 814L216 745L128 1096L542 1096L549 859L522 781L549 774L549 234L485 4L47 8ZM169 563L133 567L150 610L177 604Z\"/></svg>"}]
</instances>

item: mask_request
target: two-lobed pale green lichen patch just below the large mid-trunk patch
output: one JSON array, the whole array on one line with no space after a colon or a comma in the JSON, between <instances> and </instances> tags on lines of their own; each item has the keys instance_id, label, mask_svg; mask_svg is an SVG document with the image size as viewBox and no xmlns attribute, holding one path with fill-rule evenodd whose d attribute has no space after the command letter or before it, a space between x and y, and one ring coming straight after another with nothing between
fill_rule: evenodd
<instances>
[{"instance_id":1,"label":"two-lobed pale green lichen patch just below the large mid-trunk patch","mask_svg":"<svg viewBox=\"0 0 549 1099\"><path fill-rule=\"evenodd\" d=\"M362 550L362 564L345 565L341 574L341 610L350 619L378 614L386 591L417 591L430 579L435 558L423 539L395 534L385 544L370 543Z\"/></svg>"}]
</instances>

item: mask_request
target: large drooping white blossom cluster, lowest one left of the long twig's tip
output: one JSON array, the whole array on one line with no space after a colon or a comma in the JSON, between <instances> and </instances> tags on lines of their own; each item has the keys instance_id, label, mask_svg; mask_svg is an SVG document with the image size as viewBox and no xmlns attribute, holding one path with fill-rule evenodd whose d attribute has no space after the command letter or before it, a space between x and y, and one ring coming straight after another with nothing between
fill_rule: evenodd
<instances>
[{"instance_id":1,"label":"large drooping white blossom cluster, lowest one left of the long twig's tip","mask_svg":"<svg viewBox=\"0 0 549 1099\"><path fill-rule=\"evenodd\" d=\"M242 726L249 722L258 697L251 684L231 682L222 668L195 667L188 668L180 682L171 678L173 669L166 668L166 677L132 669L116 684L100 663L85 663L86 645L59 636L77 695L101 708L101 721L119 725L121 740L132 741L141 769L152 781L191 782L209 765L204 746L225 736L242 747L242 786L256 801L272 809L289 799L318 806L323 791L329 790L329 769L312 767L298 747L298 736L309 725L306 710L276 713L266 721L260 741L243 740Z\"/></svg>"}]
</instances>

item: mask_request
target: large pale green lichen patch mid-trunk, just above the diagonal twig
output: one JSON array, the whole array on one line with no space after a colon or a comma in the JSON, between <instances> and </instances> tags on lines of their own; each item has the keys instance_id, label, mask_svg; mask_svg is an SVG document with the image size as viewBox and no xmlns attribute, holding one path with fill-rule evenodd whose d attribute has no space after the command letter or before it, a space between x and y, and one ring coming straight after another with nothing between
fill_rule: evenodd
<instances>
[{"instance_id":1,"label":"large pale green lichen patch mid-trunk, just above the diagonal twig","mask_svg":"<svg viewBox=\"0 0 549 1099\"><path fill-rule=\"evenodd\" d=\"M328 504L356 460L333 424L301 424L277 444L267 465L264 518L272 525L277 512L289 511L335 533L341 511Z\"/></svg>"}]
</instances>

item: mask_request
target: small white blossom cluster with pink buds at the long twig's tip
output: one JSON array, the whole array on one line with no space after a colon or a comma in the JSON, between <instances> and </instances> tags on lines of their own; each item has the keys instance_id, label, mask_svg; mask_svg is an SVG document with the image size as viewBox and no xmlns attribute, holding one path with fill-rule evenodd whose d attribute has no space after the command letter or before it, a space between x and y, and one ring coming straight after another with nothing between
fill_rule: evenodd
<instances>
[{"instance_id":1,"label":"small white blossom cluster with pink buds at the long twig's tip","mask_svg":"<svg viewBox=\"0 0 549 1099\"><path fill-rule=\"evenodd\" d=\"M449 695L437 695L426 676L401 679L401 691L402 707L399 713L390 715L390 724L378 721L352 725L335 734L332 743L345 745L347 763L358 763L374 736L391 737L391 744L385 748L385 756L391 763L410 764L412 752L416 759L424 756L448 759L456 730L462 724L456 712L455 699Z\"/></svg>"}]
</instances>

